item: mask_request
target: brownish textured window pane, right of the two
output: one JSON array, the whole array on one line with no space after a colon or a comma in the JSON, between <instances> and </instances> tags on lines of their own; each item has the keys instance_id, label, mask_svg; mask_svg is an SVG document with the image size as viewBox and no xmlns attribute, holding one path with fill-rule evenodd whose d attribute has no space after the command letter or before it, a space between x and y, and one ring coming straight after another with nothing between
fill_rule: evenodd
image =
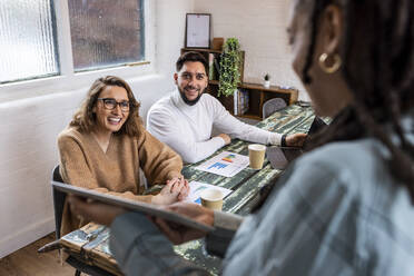
<instances>
[{"instance_id":1,"label":"brownish textured window pane, right of the two","mask_svg":"<svg viewBox=\"0 0 414 276\"><path fill-rule=\"evenodd\" d=\"M140 0L69 0L76 71L144 59Z\"/></svg>"}]
</instances>

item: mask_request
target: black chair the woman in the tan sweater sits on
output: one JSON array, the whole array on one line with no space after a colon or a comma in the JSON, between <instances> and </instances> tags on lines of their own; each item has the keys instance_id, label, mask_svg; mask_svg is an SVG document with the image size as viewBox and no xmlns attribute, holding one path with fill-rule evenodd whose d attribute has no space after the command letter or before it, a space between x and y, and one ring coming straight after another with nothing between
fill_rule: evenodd
<instances>
[{"instance_id":1,"label":"black chair the woman in the tan sweater sits on","mask_svg":"<svg viewBox=\"0 0 414 276\"><path fill-rule=\"evenodd\" d=\"M52 179L53 181L63 183L63 179L59 172L59 165L56 166L53 169ZM62 224L66 194L52 188L52 195L53 195L53 207L55 207L56 238L59 239L60 238L60 226ZM114 274L108 273L100 267L85 264L83 262L70 255L66 259L66 263L68 263L69 265L76 268L75 276L80 276L81 273L85 273L91 276L114 276Z\"/></svg>"}]
</instances>

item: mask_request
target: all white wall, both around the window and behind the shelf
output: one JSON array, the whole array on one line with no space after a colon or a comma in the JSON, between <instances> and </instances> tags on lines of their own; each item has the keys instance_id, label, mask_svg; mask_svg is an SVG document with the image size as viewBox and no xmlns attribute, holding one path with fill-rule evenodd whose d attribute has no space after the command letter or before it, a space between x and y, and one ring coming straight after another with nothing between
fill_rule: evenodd
<instances>
[{"instance_id":1,"label":"all white wall, both around the window and behind the shelf","mask_svg":"<svg viewBox=\"0 0 414 276\"><path fill-rule=\"evenodd\" d=\"M124 77L141 101L142 117L174 88L172 72L184 45L187 12L209 12L215 37L239 38L246 50L246 81L259 81L268 71L273 83L298 87L289 70L285 36L289 0L151 1L155 66L144 76ZM51 82L51 88L39 90L42 80L12 93L0 87L0 258L55 229L50 175L58 164L56 138L91 80L86 75L72 83L73 89Z\"/></svg>"}]
</instances>

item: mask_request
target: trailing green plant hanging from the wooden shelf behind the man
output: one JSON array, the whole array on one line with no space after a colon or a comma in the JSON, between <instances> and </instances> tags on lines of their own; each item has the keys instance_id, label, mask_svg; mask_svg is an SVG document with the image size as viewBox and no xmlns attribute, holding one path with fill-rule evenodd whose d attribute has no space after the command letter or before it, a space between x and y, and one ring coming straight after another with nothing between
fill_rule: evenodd
<instances>
[{"instance_id":1,"label":"trailing green plant hanging from the wooden shelf behind the man","mask_svg":"<svg viewBox=\"0 0 414 276\"><path fill-rule=\"evenodd\" d=\"M229 38L220 57L218 96L231 96L240 81L240 45L237 38Z\"/></svg>"}]
</instances>

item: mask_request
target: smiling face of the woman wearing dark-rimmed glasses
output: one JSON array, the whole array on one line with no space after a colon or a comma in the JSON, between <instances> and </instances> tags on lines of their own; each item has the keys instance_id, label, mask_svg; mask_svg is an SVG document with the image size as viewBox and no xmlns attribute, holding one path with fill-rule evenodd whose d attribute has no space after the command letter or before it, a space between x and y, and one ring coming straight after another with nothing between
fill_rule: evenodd
<instances>
[{"instance_id":1,"label":"smiling face of the woman wearing dark-rimmed glasses","mask_svg":"<svg viewBox=\"0 0 414 276\"><path fill-rule=\"evenodd\" d=\"M117 102L129 101L127 90L124 87L107 86L100 93L100 99L111 98ZM103 100L98 100L93 107L96 114L96 131L100 134L117 132L128 119L129 111L122 111L119 105L114 109L108 109Z\"/></svg>"}]
</instances>

